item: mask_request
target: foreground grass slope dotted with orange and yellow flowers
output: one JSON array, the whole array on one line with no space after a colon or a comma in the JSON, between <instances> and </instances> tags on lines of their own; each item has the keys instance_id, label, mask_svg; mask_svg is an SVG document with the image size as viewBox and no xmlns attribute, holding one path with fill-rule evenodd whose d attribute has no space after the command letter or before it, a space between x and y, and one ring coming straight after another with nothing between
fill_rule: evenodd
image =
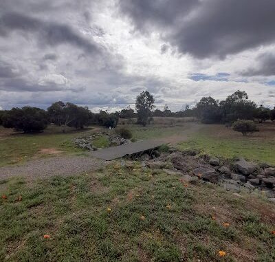
<instances>
[{"instance_id":1,"label":"foreground grass slope dotted with orange and yellow flowers","mask_svg":"<svg viewBox=\"0 0 275 262\"><path fill-rule=\"evenodd\" d=\"M0 261L275 259L265 200L185 184L137 162L32 184L8 179L0 195Z\"/></svg>"}]
</instances>

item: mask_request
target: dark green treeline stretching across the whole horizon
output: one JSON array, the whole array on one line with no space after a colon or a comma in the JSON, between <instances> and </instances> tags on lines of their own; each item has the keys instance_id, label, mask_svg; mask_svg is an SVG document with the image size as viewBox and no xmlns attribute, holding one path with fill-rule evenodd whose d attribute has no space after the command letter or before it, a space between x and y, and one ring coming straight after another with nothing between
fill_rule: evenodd
<instances>
[{"instance_id":1,"label":"dark green treeline stretching across the whole horizon","mask_svg":"<svg viewBox=\"0 0 275 262\"><path fill-rule=\"evenodd\" d=\"M241 120L275 120L275 108L257 107L255 102L248 100L245 91L236 91L225 100L219 101L212 97L203 97L197 105L190 109L188 105L184 110L172 112L166 105L164 110L154 108L154 98L144 91L137 96L135 110L131 107L116 111L115 113L92 113L88 107L79 107L71 102L54 102L47 110L37 107L12 108L0 111L0 124L6 128L18 131L39 132L53 123L58 126L83 129L89 124L100 124L105 127L116 127L119 118L137 118L137 124L146 125L157 117L195 117L203 123L232 124Z\"/></svg>"}]
</instances>

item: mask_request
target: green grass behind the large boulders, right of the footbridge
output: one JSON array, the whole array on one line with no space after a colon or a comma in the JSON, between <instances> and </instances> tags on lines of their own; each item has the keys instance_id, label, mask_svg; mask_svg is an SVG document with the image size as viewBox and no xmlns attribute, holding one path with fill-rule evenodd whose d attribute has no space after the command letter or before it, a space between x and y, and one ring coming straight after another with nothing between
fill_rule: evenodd
<instances>
[{"instance_id":1,"label":"green grass behind the large boulders, right of the footbridge","mask_svg":"<svg viewBox=\"0 0 275 262\"><path fill-rule=\"evenodd\" d=\"M275 164L275 125L261 124L260 132L243 136L223 125L203 125L179 149L199 149L202 153L224 158L245 157L256 162Z\"/></svg>"}]
</instances>

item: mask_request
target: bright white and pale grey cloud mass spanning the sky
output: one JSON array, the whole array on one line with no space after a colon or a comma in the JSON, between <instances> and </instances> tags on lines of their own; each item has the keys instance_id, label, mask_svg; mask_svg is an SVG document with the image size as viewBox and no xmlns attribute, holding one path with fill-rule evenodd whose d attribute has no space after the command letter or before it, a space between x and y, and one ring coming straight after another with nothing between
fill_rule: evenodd
<instances>
[{"instance_id":1,"label":"bright white and pale grey cloud mass spanning the sky","mask_svg":"<svg viewBox=\"0 0 275 262\"><path fill-rule=\"evenodd\" d=\"M0 17L20 10L25 17L40 21L44 31L53 34L50 39L57 38L58 43L43 43L37 30L25 33L10 29L10 34L3 35L0 27L0 65L3 63L7 75L0 77L0 105L4 109L47 107L55 100L64 100L113 111L126 105L134 107L137 94L145 89L155 96L161 109L168 104L170 109L179 110L186 104L194 105L202 96L221 100L237 89L247 91L256 102L274 105L270 93L274 86L264 84L275 80L274 76L244 77L240 72L254 66L259 54L275 53L275 45L229 54L222 60L198 59L179 53L158 30L149 34L135 31L118 9L117 0L16 2L15 9L10 2L1 3ZM57 33L66 25L67 34L58 38L59 34L48 28L51 23L57 26ZM89 52L91 45L98 52ZM190 74L215 76L221 72L229 74L227 82L189 78Z\"/></svg>"}]
</instances>

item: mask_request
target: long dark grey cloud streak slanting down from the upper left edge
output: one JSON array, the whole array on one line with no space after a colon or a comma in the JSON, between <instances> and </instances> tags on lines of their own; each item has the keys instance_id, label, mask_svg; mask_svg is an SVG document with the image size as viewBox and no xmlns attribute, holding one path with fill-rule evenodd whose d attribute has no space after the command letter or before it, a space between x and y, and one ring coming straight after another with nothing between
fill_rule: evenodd
<instances>
[{"instance_id":1,"label":"long dark grey cloud streak slanting down from the upper left edge","mask_svg":"<svg viewBox=\"0 0 275 262\"><path fill-rule=\"evenodd\" d=\"M17 30L36 34L40 45L59 45L68 43L85 50L87 53L100 52L91 39L85 39L69 25L42 21L16 12L3 14L0 18L0 33L3 37Z\"/></svg>"}]
</instances>

